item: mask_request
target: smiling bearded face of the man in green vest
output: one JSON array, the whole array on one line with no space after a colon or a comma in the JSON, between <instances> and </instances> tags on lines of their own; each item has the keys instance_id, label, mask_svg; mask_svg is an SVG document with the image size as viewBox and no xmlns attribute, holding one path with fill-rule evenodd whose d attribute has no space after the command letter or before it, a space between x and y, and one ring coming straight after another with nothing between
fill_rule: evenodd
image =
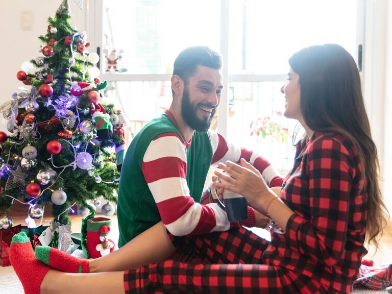
<instances>
[{"instance_id":1,"label":"smiling bearded face of the man in green vest","mask_svg":"<svg viewBox=\"0 0 392 294\"><path fill-rule=\"evenodd\" d=\"M222 76L218 69L199 65L185 83L181 115L195 131L206 132L211 125L222 92Z\"/></svg>"}]
</instances>

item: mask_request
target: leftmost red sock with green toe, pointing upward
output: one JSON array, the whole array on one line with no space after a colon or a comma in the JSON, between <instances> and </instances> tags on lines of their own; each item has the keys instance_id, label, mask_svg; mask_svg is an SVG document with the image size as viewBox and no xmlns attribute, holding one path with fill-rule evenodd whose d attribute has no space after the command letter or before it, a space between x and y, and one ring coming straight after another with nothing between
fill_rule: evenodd
<instances>
[{"instance_id":1,"label":"leftmost red sock with green toe, pointing upward","mask_svg":"<svg viewBox=\"0 0 392 294\"><path fill-rule=\"evenodd\" d=\"M29 237L20 232L12 237L10 262L26 294L39 294L43 278L51 269L37 260Z\"/></svg>"}]
</instances>

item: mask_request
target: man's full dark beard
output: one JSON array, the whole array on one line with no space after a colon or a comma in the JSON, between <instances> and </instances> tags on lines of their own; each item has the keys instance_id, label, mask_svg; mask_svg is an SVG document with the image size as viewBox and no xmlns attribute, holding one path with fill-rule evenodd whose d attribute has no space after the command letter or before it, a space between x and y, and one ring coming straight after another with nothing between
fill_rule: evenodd
<instances>
[{"instance_id":1,"label":"man's full dark beard","mask_svg":"<svg viewBox=\"0 0 392 294\"><path fill-rule=\"evenodd\" d=\"M205 105L207 107L214 107L212 105ZM186 124L191 127L193 130L198 132L207 132L211 125L211 120L214 117L216 108L211 112L210 117L204 117L204 119L200 119L196 112L197 112L198 105L193 107L189 101L189 91L184 89L182 95L182 103L181 103L181 115L182 118L185 120Z\"/></svg>"}]
</instances>

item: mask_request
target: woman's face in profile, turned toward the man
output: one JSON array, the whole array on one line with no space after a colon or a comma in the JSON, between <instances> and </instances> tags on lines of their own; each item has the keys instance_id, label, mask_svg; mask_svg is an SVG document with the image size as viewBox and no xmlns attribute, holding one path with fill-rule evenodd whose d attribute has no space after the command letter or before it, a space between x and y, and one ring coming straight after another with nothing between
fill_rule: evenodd
<instances>
[{"instance_id":1,"label":"woman's face in profile, turned toward the man","mask_svg":"<svg viewBox=\"0 0 392 294\"><path fill-rule=\"evenodd\" d=\"M286 99L284 116L302 120L300 76L291 69L288 71L287 83L280 89Z\"/></svg>"}]
</instances>

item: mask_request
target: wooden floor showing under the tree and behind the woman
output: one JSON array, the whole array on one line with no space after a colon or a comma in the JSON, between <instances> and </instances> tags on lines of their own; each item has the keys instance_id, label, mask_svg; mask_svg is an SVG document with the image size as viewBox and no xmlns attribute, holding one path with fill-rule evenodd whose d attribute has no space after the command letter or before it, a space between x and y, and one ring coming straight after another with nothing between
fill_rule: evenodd
<instances>
[{"instance_id":1,"label":"wooden floor showing under the tree and behind the woman","mask_svg":"<svg viewBox=\"0 0 392 294\"><path fill-rule=\"evenodd\" d=\"M18 224L24 225L24 218L26 218L25 215L23 216L11 215L11 216L14 220L14 225L18 225ZM78 215L72 215L70 217L72 221L71 231L74 233L80 232L82 226L82 217ZM118 240L117 216L112 215L109 218L112 219L112 226L111 226L111 231L109 233L109 236L112 240L114 240L117 243ZM47 226L51 220L52 220L51 217L44 217L42 225ZM37 225L39 225L38 222ZM379 250L375 252L375 249L373 247L370 247L368 250L369 253L365 256L365 258L372 259L374 261L375 266L392 263L392 223L391 222L389 223L383 236L380 239Z\"/></svg>"}]
</instances>

